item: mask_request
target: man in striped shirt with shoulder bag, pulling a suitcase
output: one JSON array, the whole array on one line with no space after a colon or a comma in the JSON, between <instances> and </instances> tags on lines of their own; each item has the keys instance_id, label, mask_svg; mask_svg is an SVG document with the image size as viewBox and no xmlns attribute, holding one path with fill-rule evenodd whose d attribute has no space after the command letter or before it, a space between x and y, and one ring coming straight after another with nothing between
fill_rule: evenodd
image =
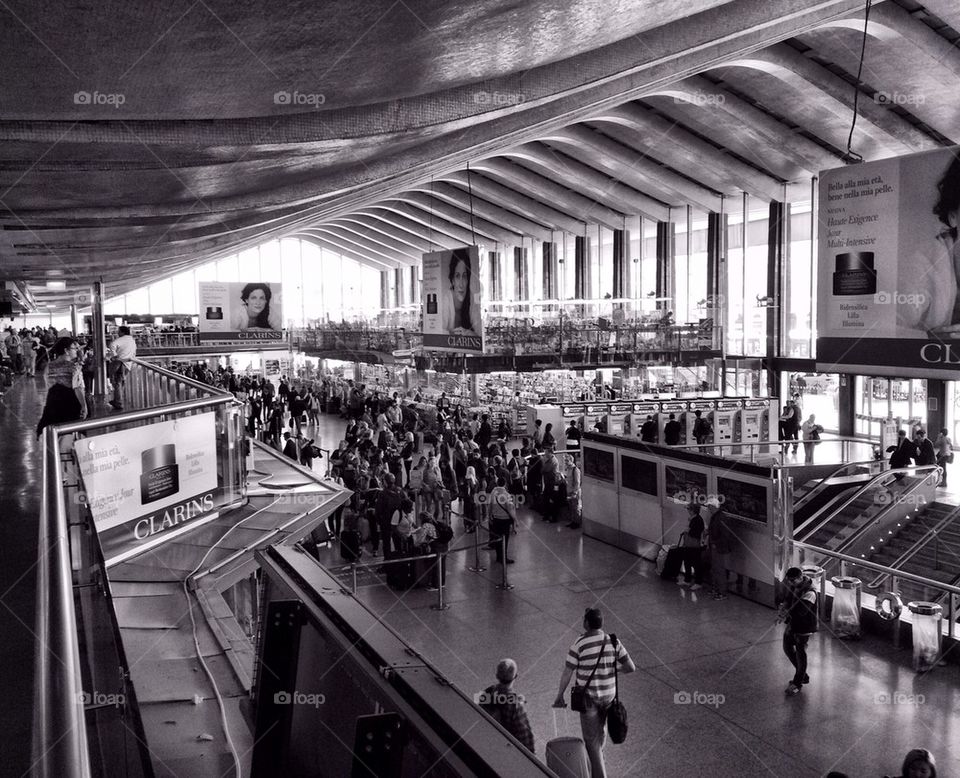
<instances>
[{"instance_id":1,"label":"man in striped shirt with shoulder bag, pulling a suitcase","mask_svg":"<svg viewBox=\"0 0 960 778\"><path fill-rule=\"evenodd\" d=\"M580 729L590 758L590 775L591 778L606 778L603 744L606 739L607 709L615 693L614 667L619 663L620 672L632 673L637 666L622 643L618 641L614 648L610 636L603 631L603 612L599 608L587 608L583 614L583 628L585 632L567 652L560 691L557 692L553 707L567 707L563 695L576 673L575 684L587 687L586 710L580 713Z\"/></svg>"}]
</instances>

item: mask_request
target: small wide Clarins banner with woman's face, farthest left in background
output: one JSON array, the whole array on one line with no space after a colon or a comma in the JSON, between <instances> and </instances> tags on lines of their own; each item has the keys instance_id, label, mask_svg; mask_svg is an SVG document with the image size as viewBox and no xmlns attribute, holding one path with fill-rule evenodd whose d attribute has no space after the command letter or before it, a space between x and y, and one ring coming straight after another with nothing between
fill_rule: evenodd
<instances>
[{"instance_id":1,"label":"small wide Clarins banner with woman's face, farthest left in background","mask_svg":"<svg viewBox=\"0 0 960 778\"><path fill-rule=\"evenodd\" d=\"M200 340L283 340L280 284L203 282Z\"/></svg>"}]
</instances>

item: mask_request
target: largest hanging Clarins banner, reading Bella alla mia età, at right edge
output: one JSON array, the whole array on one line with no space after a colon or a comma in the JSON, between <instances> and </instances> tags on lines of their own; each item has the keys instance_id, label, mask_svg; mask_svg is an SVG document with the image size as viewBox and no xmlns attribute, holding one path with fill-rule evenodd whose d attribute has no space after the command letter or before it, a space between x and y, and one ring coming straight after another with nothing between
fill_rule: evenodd
<instances>
[{"instance_id":1,"label":"largest hanging Clarins banner, reading Bella alla mia et\u00e0, at right edge","mask_svg":"<svg viewBox=\"0 0 960 778\"><path fill-rule=\"evenodd\" d=\"M821 369L960 369L958 151L821 174Z\"/></svg>"}]
</instances>

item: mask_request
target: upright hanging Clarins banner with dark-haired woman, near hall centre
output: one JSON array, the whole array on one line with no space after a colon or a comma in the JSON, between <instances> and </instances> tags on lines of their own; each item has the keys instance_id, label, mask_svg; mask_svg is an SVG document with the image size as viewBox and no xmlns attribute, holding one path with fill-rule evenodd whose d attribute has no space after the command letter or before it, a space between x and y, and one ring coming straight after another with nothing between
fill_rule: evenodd
<instances>
[{"instance_id":1,"label":"upright hanging Clarins banner with dark-haired woman, near hall centre","mask_svg":"<svg viewBox=\"0 0 960 778\"><path fill-rule=\"evenodd\" d=\"M480 249L466 246L423 255L423 347L483 353Z\"/></svg>"}]
</instances>

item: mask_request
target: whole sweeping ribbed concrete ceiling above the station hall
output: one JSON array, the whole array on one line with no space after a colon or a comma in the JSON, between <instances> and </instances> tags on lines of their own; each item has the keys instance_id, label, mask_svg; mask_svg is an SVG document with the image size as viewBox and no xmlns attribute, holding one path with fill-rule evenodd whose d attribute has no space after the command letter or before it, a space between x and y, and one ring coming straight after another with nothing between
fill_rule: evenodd
<instances>
[{"instance_id":1,"label":"whole sweeping ribbed concrete ceiling above the station hall","mask_svg":"<svg viewBox=\"0 0 960 778\"><path fill-rule=\"evenodd\" d=\"M287 235L387 268L782 197L842 164L863 5L3 3L0 278L59 305ZM958 25L874 5L856 152L960 142Z\"/></svg>"}]
</instances>

